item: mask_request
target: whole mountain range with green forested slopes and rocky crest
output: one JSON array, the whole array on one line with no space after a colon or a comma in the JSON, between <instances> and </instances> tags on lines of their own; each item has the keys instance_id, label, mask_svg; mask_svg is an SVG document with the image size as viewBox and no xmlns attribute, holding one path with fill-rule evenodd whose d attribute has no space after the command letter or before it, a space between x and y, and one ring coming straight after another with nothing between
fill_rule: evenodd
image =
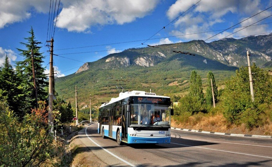
<instances>
[{"instance_id":1,"label":"whole mountain range with green forested slopes and rocky crest","mask_svg":"<svg viewBox=\"0 0 272 167\"><path fill-rule=\"evenodd\" d=\"M88 104L89 94L96 103L116 96L116 86L125 90L152 89L161 95L180 93L188 89L192 70L200 73L204 85L208 71L218 82L233 75L238 67L247 66L247 50L251 63L272 67L271 39L272 33L210 43L193 40L127 49L86 62L76 73L56 79L55 87L59 95L73 102L73 88L77 85L82 105Z\"/></svg>"}]
</instances>

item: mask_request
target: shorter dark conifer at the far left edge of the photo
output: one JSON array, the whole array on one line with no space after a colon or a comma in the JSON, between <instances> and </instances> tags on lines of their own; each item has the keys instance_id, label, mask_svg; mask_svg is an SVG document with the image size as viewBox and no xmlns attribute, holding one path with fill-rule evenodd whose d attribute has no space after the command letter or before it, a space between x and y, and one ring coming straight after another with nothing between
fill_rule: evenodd
<instances>
[{"instance_id":1,"label":"shorter dark conifer at the far left edge of the photo","mask_svg":"<svg viewBox=\"0 0 272 167\"><path fill-rule=\"evenodd\" d=\"M0 71L0 89L2 99L5 99L9 108L18 114L18 109L20 107L19 101L19 89L17 75L13 71L12 66L9 63L9 59L6 55L5 62L3 68Z\"/></svg>"}]
</instances>

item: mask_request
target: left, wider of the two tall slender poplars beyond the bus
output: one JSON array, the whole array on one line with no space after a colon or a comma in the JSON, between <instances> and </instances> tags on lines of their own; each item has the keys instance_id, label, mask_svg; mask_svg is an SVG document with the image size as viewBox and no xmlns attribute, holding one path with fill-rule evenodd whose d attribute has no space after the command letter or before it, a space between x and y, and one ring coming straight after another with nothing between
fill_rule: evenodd
<instances>
[{"instance_id":1,"label":"left, wider of the two tall slender poplars beyond the bus","mask_svg":"<svg viewBox=\"0 0 272 167\"><path fill-rule=\"evenodd\" d=\"M196 71L192 71L190 80L190 96L196 97L201 103L204 101L204 93L200 75Z\"/></svg>"}]
</instances>

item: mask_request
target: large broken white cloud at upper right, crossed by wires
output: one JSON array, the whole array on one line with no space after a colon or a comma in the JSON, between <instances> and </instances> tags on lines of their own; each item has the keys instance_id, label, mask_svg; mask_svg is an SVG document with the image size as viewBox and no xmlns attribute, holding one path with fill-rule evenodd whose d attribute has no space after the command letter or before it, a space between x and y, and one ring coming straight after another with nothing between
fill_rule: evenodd
<instances>
[{"instance_id":1,"label":"large broken white cloud at upper right, crossed by wires","mask_svg":"<svg viewBox=\"0 0 272 167\"><path fill-rule=\"evenodd\" d=\"M167 10L167 17L169 20L175 19L193 4L197 3L198 0L177 0L174 4L172 4ZM262 8L262 9L261 9ZM196 6L191 8L184 15L179 17L174 22L175 29L171 31L173 35L182 35L182 34L190 34L190 33L198 33L205 32L211 30L211 27L214 24L223 23L227 20L223 18L227 13L232 13L237 15L238 20L243 20L256 14L263 10L261 0L205 0L200 1ZM269 16L271 12L265 11L246 22L243 22L239 26L247 26L250 25L265 16ZM227 28L227 27L226 27ZM268 25L261 25L256 27L248 27L244 30L241 30L238 33L235 33L229 37L233 36L242 36L242 35L250 35L257 33L265 33L268 32ZM213 37L213 39L223 38L232 32L237 31L238 29L228 30L228 32L223 32ZM200 33L200 34L192 34L186 36L180 36L181 39L193 40L193 39L207 39L217 32L210 33Z\"/></svg>"}]
</instances>

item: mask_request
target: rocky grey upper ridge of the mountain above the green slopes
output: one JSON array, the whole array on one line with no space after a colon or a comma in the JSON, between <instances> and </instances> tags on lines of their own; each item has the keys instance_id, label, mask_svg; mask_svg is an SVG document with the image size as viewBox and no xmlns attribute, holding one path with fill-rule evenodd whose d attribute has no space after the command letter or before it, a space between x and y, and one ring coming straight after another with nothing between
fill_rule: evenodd
<instances>
[{"instance_id":1,"label":"rocky grey upper ridge of the mountain above the green slopes","mask_svg":"<svg viewBox=\"0 0 272 167\"><path fill-rule=\"evenodd\" d=\"M256 65L262 66L272 60L272 33L269 35L249 36L242 39L226 38L211 43L206 43L203 40L194 40L191 42L159 45L155 48L128 49L105 56L96 62L85 63L76 73L88 70L89 65L100 69L126 68L133 65L151 67L160 62L168 61L171 57L189 56L174 53L173 50L203 56L207 58L206 62L208 59L212 59L225 65L236 67L247 65L246 51L249 50L251 61L255 62ZM266 65L270 64L267 63Z\"/></svg>"}]
</instances>

